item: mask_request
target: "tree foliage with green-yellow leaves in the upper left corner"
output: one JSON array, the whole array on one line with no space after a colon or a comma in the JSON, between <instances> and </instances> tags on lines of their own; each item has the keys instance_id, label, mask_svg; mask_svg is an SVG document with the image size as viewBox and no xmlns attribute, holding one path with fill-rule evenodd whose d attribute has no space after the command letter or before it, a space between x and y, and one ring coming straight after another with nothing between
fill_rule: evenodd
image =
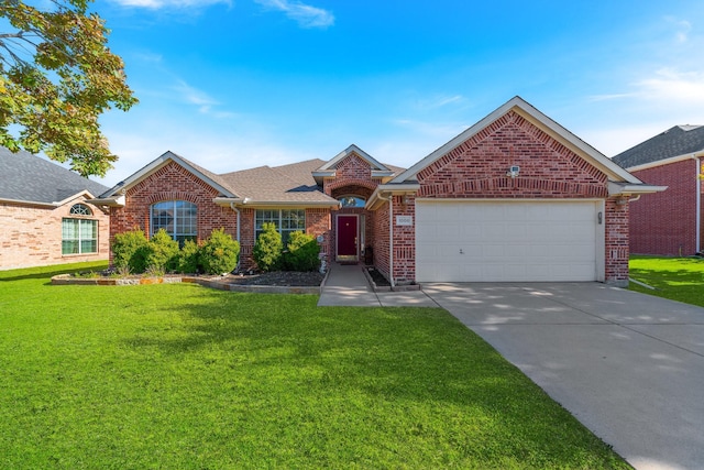
<instances>
[{"instance_id":1,"label":"tree foliage with green-yellow leaves in the upper left corner","mask_svg":"<svg viewBox=\"0 0 704 470\"><path fill-rule=\"evenodd\" d=\"M136 102L122 59L108 48L92 0L51 0L41 9L0 1L0 145L44 151L79 174L105 176L117 161L98 117ZM0 26L0 28L2 28Z\"/></svg>"}]
</instances>

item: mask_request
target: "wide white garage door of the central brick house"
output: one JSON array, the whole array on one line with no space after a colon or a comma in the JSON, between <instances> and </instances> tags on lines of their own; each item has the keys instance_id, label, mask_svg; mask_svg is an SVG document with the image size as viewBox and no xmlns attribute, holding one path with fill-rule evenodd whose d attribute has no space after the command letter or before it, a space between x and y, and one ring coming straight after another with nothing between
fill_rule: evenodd
<instances>
[{"instance_id":1,"label":"wide white garage door of the central brick house","mask_svg":"<svg viewBox=\"0 0 704 470\"><path fill-rule=\"evenodd\" d=\"M593 200L418 200L416 278L596 281L600 208Z\"/></svg>"}]
</instances>

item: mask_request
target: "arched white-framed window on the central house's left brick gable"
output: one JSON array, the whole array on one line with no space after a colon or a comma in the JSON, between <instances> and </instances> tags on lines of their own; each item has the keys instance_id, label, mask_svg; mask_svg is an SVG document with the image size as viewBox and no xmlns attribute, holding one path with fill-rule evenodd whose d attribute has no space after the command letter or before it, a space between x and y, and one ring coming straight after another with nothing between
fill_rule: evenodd
<instances>
[{"instance_id":1,"label":"arched white-framed window on the central house's left brick gable","mask_svg":"<svg viewBox=\"0 0 704 470\"><path fill-rule=\"evenodd\" d=\"M183 244L198 237L198 206L187 200L163 200L150 207L151 233L166 230Z\"/></svg>"}]
</instances>

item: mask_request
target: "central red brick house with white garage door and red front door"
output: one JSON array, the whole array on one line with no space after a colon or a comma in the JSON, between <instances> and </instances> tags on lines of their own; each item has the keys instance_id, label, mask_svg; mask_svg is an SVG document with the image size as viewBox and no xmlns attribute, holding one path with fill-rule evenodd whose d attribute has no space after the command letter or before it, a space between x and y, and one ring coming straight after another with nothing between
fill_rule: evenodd
<instances>
[{"instance_id":1,"label":"central red brick house with white garage door and red front door","mask_svg":"<svg viewBox=\"0 0 704 470\"><path fill-rule=\"evenodd\" d=\"M661 190L516 97L409 170L355 145L216 175L170 152L92 201L111 237L224 228L242 266L263 222L317 237L329 261L370 251L393 284L628 280L629 198Z\"/></svg>"}]
</instances>

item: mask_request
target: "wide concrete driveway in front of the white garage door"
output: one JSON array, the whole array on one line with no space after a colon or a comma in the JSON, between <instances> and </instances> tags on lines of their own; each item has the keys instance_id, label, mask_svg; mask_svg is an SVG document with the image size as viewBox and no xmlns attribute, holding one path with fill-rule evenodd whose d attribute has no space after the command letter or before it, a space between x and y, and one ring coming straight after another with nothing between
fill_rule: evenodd
<instances>
[{"instance_id":1,"label":"wide concrete driveway in front of the white garage door","mask_svg":"<svg viewBox=\"0 0 704 470\"><path fill-rule=\"evenodd\" d=\"M704 469L704 308L598 283L424 291L637 469Z\"/></svg>"}]
</instances>

